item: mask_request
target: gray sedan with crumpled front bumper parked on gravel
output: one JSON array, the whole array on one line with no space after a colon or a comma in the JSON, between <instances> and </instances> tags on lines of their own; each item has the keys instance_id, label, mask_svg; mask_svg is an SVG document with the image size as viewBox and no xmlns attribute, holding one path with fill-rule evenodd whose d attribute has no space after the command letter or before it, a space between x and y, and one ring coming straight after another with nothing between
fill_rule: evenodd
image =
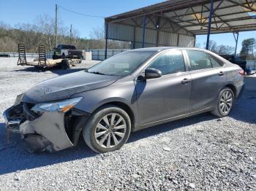
<instances>
[{"instance_id":1,"label":"gray sedan with crumpled front bumper parked on gravel","mask_svg":"<svg viewBox=\"0 0 256 191\"><path fill-rule=\"evenodd\" d=\"M78 144L120 149L132 131L203 112L227 116L244 87L244 71L207 50L128 50L86 71L40 82L4 112L30 152Z\"/></svg>"}]
</instances>

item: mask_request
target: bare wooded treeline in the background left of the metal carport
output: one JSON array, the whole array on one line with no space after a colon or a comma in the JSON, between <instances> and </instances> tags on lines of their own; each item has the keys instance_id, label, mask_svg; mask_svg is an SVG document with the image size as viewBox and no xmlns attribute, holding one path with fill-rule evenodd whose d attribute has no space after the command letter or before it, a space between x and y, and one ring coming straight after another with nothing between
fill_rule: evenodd
<instances>
[{"instance_id":1,"label":"bare wooded treeline in the background left of the metal carport","mask_svg":"<svg viewBox=\"0 0 256 191\"><path fill-rule=\"evenodd\" d=\"M79 49L104 49L105 28L93 28L90 39L80 38L79 31L72 28L72 44ZM69 44L69 28L61 20L58 23L59 44ZM47 51L55 46L55 20L48 15L39 15L34 23L18 23L14 27L0 23L0 52L16 52L18 43L24 43L27 52L37 52L38 44L44 44ZM130 42L108 40L108 48L129 48Z\"/></svg>"}]
</instances>

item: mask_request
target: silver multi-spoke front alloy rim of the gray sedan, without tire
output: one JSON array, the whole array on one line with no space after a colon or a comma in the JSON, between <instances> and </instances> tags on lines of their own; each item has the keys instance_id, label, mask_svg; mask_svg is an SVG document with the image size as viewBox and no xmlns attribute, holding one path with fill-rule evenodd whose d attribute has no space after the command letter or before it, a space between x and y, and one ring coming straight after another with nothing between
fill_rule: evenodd
<instances>
[{"instance_id":1,"label":"silver multi-spoke front alloy rim of the gray sedan, without tire","mask_svg":"<svg viewBox=\"0 0 256 191\"><path fill-rule=\"evenodd\" d=\"M97 123L94 138L102 148L116 147L125 136L127 123L120 114L110 113Z\"/></svg>"}]
</instances>

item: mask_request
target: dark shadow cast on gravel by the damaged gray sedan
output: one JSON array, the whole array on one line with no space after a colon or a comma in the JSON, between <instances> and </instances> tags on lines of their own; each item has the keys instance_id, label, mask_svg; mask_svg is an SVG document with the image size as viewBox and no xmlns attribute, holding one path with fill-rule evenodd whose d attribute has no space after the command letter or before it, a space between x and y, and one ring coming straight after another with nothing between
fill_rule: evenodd
<instances>
[{"instance_id":1,"label":"dark shadow cast on gravel by the damaged gray sedan","mask_svg":"<svg viewBox=\"0 0 256 191\"><path fill-rule=\"evenodd\" d=\"M132 133L128 142L137 141L148 136L154 136L175 128L182 128L183 126L192 125L197 122L214 119L216 119L216 117L211 114L200 114L196 117L168 122L164 125L157 125ZM23 147L23 141L20 139L20 134L18 133L12 133L10 144L7 144L4 123L0 123L0 175L94 156L97 156L97 153L92 152L83 139L80 139L77 147L64 149L60 152L28 153L26 152L25 147Z\"/></svg>"}]
</instances>

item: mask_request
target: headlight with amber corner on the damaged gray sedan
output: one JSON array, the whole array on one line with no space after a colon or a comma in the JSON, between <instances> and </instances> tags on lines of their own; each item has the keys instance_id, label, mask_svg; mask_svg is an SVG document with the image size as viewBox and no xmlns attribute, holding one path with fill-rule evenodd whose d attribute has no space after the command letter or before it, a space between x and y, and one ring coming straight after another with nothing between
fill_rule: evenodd
<instances>
[{"instance_id":1,"label":"headlight with amber corner on the damaged gray sedan","mask_svg":"<svg viewBox=\"0 0 256 191\"><path fill-rule=\"evenodd\" d=\"M81 99L82 97L67 99L58 102L36 104L32 107L31 110L33 110L34 112L67 112L69 111L69 109L72 109L75 104L78 104Z\"/></svg>"}]
</instances>

